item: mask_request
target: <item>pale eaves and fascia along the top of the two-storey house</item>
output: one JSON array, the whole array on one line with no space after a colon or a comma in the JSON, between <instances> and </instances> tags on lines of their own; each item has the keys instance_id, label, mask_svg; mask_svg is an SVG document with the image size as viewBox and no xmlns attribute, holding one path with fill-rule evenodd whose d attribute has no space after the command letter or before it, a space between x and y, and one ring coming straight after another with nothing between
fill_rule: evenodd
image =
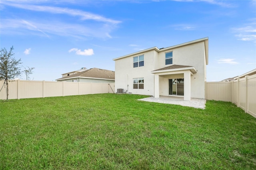
<instances>
[{"instance_id":1,"label":"pale eaves and fascia along the top of the two-storey house","mask_svg":"<svg viewBox=\"0 0 256 170\"><path fill-rule=\"evenodd\" d=\"M132 55L136 55L138 53L145 53L145 52L151 51L151 50L156 50L158 52L166 51L166 50L170 50L170 49L174 49L174 48L177 48L177 47L182 47L182 46L185 46L185 45L190 45L190 44L198 43L198 42L204 42L206 65L208 65L208 37L201 38L201 39L198 39L198 40L194 40L194 41L191 41L191 42L181 43L181 44L174 45L174 46L171 46L171 47L166 47L166 48L160 48L159 49L158 47L151 47L151 48L148 48L148 49L144 49L142 51L138 51L138 52L131 53L131 54L128 54L128 55L124 55L122 57L114 58L113 60L115 61L115 60L118 60L118 59L122 59L122 58L125 58L125 57L130 57Z\"/></svg>"}]
</instances>

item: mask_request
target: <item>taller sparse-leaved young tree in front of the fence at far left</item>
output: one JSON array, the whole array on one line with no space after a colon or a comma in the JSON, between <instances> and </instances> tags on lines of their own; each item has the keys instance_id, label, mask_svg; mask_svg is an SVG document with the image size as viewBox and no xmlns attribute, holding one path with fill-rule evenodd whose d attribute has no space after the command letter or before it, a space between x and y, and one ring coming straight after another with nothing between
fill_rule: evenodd
<instances>
[{"instance_id":1,"label":"taller sparse-leaved young tree in front of the fence at far left","mask_svg":"<svg viewBox=\"0 0 256 170\"><path fill-rule=\"evenodd\" d=\"M16 60L14 53L12 52L13 46L8 52L5 48L1 48L0 51L0 80L6 82L6 99L8 100L9 89L8 89L8 80L14 79L21 74L20 64L21 59Z\"/></svg>"}]
</instances>

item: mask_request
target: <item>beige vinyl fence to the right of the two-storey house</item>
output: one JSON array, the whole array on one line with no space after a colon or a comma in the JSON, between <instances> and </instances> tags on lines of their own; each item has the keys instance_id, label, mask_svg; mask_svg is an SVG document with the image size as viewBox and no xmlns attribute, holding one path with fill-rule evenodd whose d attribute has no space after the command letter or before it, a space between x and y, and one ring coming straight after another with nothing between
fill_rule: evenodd
<instances>
[{"instance_id":1,"label":"beige vinyl fence to the right of the two-storey house","mask_svg":"<svg viewBox=\"0 0 256 170\"><path fill-rule=\"evenodd\" d=\"M230 101L256 117L256 74L236 81L206 82L206 99Z\"/></svg>"}]
</instances>

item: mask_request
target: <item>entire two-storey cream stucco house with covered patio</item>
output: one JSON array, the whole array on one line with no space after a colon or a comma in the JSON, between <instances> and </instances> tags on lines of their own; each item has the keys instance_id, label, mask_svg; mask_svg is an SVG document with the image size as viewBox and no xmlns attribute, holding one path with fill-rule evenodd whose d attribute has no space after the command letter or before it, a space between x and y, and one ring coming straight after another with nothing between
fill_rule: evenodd
<instances>
[{"instance_id":1,"label":"entire two-storey cream stucco house with covered patio","mask_svg":"<svg viewBox=\"0 0 256 170\"><path fill-rule=\"evenodd\" d=\"M208 38L166 48L152 47L113 59L115 91L205 98Z\"/></svg>"}]
</instances>

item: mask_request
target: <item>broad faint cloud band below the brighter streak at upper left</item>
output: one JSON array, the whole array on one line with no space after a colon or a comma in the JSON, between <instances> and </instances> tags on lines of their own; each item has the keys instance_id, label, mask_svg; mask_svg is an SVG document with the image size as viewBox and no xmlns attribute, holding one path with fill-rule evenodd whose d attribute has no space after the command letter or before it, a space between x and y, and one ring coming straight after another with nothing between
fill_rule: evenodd
<instances>
[{"instance_id":1,"label":"broad faint cloud band below the brighter streak at upper left","mask_svg":"<svg viewBox=\"0 0 256 170\"><path fill-rule=\"evenodd\" d=\"M1 19L1 34L34 34L38 36L57 36L74 37L84 39L86 37L111 38L109 33L116 26L104 26L106 24L68 24L54 20L25 21L18 19Z\"/></svg>"}]
</instances>

